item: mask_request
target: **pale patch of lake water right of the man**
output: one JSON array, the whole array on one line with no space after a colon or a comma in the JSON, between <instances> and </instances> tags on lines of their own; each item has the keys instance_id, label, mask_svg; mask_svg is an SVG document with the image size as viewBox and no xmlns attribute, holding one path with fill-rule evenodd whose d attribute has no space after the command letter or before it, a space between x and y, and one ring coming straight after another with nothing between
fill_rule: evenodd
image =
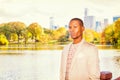
<instances>
[{"instance_id":1,"label":"pale patch of lake water right of the man","mask_svg":"<svg viewBox=\"0 0 120 80\"><path fill-rule=\"evenodd\" d=\"M120 76L120 64L116 61L116 57L120 56L117 50L99 50L101 71L111 71L113 79Z\"/></svg>"}]
</instances>

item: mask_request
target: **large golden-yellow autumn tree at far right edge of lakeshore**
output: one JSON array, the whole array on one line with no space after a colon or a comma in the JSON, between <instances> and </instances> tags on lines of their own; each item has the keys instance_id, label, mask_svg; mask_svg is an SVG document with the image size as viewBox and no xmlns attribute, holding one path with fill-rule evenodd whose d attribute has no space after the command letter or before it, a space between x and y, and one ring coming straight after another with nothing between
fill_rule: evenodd
<instances>
[{"instance_id":1,"label":"large golden-yellow autumn tree at far right edge of lakeshore","mask_svg":"<svg viewBox=\"0 0 120 80\"><path fill-rule=\"evenodd\" d=\"M106 26L103 30L106 43L117 45L120 41L120 19Z\"/></svg>"}]
</instances>

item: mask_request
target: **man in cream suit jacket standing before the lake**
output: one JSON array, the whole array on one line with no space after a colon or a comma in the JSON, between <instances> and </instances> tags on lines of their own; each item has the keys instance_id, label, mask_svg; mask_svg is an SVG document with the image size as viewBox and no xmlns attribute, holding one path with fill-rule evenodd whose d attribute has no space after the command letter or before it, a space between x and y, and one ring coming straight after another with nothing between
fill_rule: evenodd
<instances>
[{"instance_id":1,"label":"man in cream suit jacket standing before the lake","mask_svg":"<svg viewBox=\"0 0 120 80\"><path fill-rule=\"evenodd\" d=\"M83 31L81 19L70 20L69 33L73 42L62 52L60 80L100 80L98 50L85 42Z\"/></svg>"}]
</instances>

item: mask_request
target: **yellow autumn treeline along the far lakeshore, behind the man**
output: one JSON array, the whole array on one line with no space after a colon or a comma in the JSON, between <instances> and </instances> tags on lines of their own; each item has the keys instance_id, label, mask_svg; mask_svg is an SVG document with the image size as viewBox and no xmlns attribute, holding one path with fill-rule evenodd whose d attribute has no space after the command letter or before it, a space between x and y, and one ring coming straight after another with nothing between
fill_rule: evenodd
<instances>
[{"instance_id":1,"label":"yellow autumn treeline along the far lakeshore, behind the man","mask_svg":"<svg viewBox=\"0 0 120 80\"><path fill-rule=\"evenodd\" d=\"M102 32L85 29L83 36L86 41L95 44L120 45L120 19L105 26ZM31 23L29 26L23 22L0 24L0 45L36 42L53 44L71 40L68 30L64 26L51 30L43 28L38 23Z\"/></svg>"}]
</instances>

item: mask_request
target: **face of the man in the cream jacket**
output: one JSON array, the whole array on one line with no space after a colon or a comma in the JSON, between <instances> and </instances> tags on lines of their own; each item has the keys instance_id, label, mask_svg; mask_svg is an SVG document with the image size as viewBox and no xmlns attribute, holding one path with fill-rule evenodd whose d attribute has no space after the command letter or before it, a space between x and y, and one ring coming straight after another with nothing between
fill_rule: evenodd
<instances>
[{"instance_id":1,"label":"face of the man in the cream jacket","mask_svg":"<svg viewBox=\"0 0 120 80\"><path fill-rule=\"evenodd\" d=\"M84 31L84 27L80 25L78 20L72 20L69 23L69 33L72 39L77 39L79 37L82 37L83 31Z\"/></svg>"}]
</instances>

